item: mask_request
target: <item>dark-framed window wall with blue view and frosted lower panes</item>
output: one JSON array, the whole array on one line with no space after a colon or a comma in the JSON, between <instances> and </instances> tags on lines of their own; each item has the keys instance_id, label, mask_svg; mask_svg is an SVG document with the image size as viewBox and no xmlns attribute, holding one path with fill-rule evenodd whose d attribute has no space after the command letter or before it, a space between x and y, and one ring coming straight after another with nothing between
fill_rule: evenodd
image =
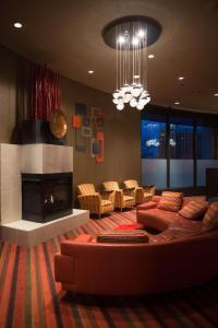
<instances>
[{"instance_id":1,"label":"dark-framed window wall with blue view and frosted lower panes","mask_svg":"<svg viewBox=\"0 0 218 328\"><path fill-rule=\"evenodd\" d=\"M157 188L206 185L218 167L218 116L152 106L142 113L142 176Z\"/></svg>"}]
</instances>

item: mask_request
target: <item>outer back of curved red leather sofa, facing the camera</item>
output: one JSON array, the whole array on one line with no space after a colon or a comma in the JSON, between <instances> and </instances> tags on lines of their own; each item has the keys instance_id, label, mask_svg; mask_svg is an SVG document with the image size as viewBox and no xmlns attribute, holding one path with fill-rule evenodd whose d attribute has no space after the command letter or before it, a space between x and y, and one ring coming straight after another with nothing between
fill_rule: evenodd
<instances>
[{"instance_id":1,"label":"outer back of curved red leather sofa, facing the camera","mask_svg":"<svg viewBox=\"0 0 218 328\"><path fill-rule=\"evenodd\" d=\"M101 244L90 235L61 243L62 290L99 295L167 292L218 276L218 231L148 244Z\"/></svg>"}]
</instances>

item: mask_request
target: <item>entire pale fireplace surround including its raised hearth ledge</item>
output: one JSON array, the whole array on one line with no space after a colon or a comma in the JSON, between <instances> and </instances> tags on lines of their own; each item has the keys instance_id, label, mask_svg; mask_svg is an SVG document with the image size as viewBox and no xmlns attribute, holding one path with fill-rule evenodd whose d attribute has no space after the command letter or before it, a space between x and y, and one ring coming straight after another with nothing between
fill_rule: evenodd
<instances>
[{"instance_id":1,"label":"entire pale fireplace surround including its raised hearth ledge","mask_svg":"<svg viewBox=\"0 0 218 328\"><path fill-rule=\"evenodd\" d=\"M74 229L73 222L76 223L76 226L87 222L88 212L82 210L76 210L74 214L64 216L68 221L65 229L64 218L46 224L22 220L21 173L65 172L73 172L73 147L44 143L25 145L0 143L0 219L3 241L31 246L41 243L43 236L48 239ZM82 218L75 220L73 216ZM72 224L71 220L73 220ZM58 222L59 225L57 225ZM58 231L53 229L55 225L59 226ZM26 237L24 237L24 232L26 232ZM29 238L31 235L32 238Z\"/></svg>"}]
</instances>

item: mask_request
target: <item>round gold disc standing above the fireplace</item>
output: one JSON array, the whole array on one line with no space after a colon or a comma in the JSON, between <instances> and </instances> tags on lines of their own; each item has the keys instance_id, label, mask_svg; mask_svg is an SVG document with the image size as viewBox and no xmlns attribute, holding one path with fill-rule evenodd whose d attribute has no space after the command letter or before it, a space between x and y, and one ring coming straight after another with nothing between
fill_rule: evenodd
<instances>
[{"instance_id":1,"label":"round gold disc standing above the fireplace","mask_svg":"<svg viewBox=\"0 0 218 328\"><path fill-rule=\"evenodd\" d=\"M66 118L63 112L61 110L53 110L51 112L51 117L50 117L50 130L51 133L58 138L61 139L65 136L66 130L68 130L68 124L66 124Z\"/></svg>"}]
</instances>

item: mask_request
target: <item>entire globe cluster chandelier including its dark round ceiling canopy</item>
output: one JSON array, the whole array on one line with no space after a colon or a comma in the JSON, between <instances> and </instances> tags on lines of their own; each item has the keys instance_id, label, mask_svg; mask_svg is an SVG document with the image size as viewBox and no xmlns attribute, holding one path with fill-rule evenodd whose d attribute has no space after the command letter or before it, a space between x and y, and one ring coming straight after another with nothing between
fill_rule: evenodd
<instances>
[{"instance_id":1,"label":"entire globe cluster chandelier including its dark round ceiling canopy","mask_svg":"<svg viewBox=\"0 0 218 328\"><path fill-rule=\"evenodd\" d=\"M147 86L147 46L160 34L159 24L144 16L119 19L104 31L106 44L116 48L117 89L112 102L142 110L150 102Z\"/></svg>"}]
</instances>

